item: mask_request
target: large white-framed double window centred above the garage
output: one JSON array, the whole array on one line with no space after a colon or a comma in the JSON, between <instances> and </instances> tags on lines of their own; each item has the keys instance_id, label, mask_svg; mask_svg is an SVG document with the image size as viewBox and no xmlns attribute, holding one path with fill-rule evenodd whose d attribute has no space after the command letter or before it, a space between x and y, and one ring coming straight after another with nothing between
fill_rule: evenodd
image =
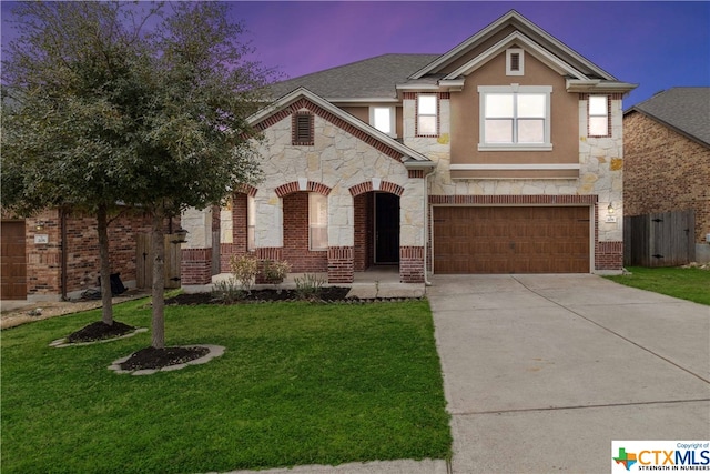
<instances>
[{"instance_id":1,"label":"large white-framed double window centred above the garage","mask_svg":"<svg viewBox=\"0 0 710 474\"><path fill-rule=\"evenodd\" d=\"M551 150L551 87L479 87L479 150Z\"/></svg>"}]
</instances>

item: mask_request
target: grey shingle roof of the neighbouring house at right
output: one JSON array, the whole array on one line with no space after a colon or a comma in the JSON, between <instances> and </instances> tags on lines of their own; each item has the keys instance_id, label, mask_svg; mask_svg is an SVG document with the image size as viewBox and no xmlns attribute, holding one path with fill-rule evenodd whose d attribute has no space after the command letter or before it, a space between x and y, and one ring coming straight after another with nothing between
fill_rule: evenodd
<instances>
[{"instance_id":1,"label":"grey shingle roof of the neighbouring house at right","mask_svg":"<svg viewBox=\"0 0 710 474\"><path fill-rule=\"evenodd\" d=\"M673 88L625 112L649 115L684 135L710 145L710 88Z\"/></svg>"}]
</instances>

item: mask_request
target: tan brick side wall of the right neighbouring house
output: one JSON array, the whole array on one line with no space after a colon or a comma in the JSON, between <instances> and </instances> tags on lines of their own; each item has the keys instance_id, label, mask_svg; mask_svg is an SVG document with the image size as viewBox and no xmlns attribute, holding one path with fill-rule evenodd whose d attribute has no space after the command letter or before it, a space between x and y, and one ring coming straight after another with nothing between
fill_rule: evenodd
<instances>
[{"instance_id":1,"label":"tan brick side wall of the right neighbouring house","mask_svg":"<svg viewBox=\"0 0 710 474\"><path fill-rule=\"evenodd\" d=\"M696 211L696 242L710 232L710 149L639 112L623 118L623 215Z\"/></svg>"}]
</instances>

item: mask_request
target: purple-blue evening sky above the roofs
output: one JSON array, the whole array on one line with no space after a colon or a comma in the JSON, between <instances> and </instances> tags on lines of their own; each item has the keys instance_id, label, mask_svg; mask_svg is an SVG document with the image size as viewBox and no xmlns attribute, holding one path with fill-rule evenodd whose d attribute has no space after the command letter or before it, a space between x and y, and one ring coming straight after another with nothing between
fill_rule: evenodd
<instances>
[{"instance_id":1,"label":"purple-blue evening sky above the roofs","mask_svg":"<svg viewBox=\"0 0 710 474\"><path fill-rule=\"evenodd\" d=\"M2 2L2 21L9 18ZM710 2L230 2L256 59L294 78L384 53L444 53L510 9L627 82L625 108L710 85ZM10 34L3 28L2 42Z\"/></svg>"}]
</instances>

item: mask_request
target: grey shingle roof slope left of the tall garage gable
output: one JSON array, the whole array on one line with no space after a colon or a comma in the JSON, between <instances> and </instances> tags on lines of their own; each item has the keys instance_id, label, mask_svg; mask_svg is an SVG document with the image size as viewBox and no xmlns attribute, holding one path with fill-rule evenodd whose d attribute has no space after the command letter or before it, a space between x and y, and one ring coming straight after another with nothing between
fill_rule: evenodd
<instances>
[{"instance_id":1,"label":"grey shingle roof slope left of the tall garage gable","mask_svg":"<svg viewBox=\"0 0 710 474\"><path fill-rule=\"evenodd\" d=\"M274 98L306 88L329 101L337 99L394 99L395 85L439 54L383 54L325 71L301 75L270 87Z\"/></svg>"}]
</instances>

